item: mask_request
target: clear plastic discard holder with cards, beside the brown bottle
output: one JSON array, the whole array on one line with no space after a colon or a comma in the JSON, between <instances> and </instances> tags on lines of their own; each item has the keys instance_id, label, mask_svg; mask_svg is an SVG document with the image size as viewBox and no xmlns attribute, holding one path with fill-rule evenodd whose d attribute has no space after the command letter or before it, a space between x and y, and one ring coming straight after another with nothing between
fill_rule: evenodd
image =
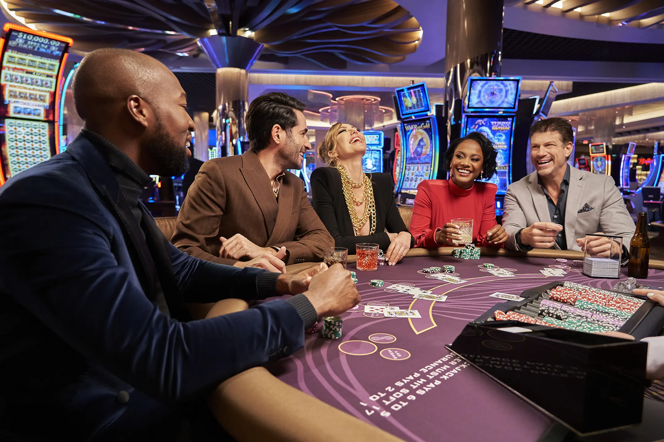
<instances>
[{"instance_id":1,"label":"clear plastic discard holder with cards, beside the brown bottle","mask_svg":"<svg viewBox=\"0 0 664 442\"><path fill-rule=\"evenodd\" d=\"M610 250L604 250L606 246L596 246L597 243L606 243L606 241L610 244ZM620 278L620 262L622 261L623 252L622 237L595 233L586 235L585 244L583 258L584 275L590 276L590 278ZM596 252L598 249L602 251Z\"/></svg>"}]
</instances>

